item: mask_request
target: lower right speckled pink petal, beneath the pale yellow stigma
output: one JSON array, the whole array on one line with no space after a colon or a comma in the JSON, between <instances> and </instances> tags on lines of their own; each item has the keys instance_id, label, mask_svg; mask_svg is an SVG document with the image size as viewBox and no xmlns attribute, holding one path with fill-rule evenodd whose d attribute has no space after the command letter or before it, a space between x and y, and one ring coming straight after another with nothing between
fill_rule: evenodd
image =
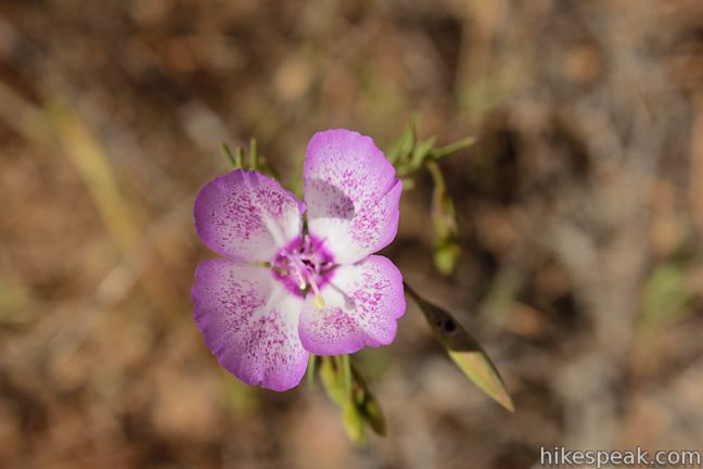
<instances>
[{"instance_id":1,"label":"lower right speckled pink petal, beneath the pale yellow stigma","mask_svg":"<svg viewBox=\"0 0 703 469\"><path fill-rule=\"evenodd\" d=\"M354 353L365 345L387 345L405 314L402 276L386 257L372 255L334 271L321 292L324 307L308 294L301 317L303 346L317 355Z\"/></svg>"}]
</instances>

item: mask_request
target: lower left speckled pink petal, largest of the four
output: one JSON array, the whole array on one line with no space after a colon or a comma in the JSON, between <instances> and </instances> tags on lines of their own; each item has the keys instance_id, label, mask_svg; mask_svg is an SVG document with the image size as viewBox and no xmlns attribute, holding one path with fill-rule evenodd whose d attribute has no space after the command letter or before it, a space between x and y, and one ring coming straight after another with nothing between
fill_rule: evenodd
<instances>
[{"instance_id":1,"label":"lower left speckled pink petal, largest of the four","mask_svg":"<svg viewBox=\"0 0 703 469\"><path fill-rule=\"evenodd\" d=\"M269 269L225 258L202 262L191 291L195 322L220 365L247 384L297 385L308 353L298 337L303 300Z\"/></svg>"}]
</instances>

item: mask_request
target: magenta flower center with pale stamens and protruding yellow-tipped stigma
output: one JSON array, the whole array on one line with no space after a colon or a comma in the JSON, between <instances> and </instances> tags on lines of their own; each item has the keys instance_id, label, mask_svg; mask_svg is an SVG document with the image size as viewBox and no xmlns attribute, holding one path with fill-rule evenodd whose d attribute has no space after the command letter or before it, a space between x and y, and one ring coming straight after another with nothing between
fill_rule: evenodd
<instances>
[{"instance_id":1,"label":"magenta flower center with pale stamens and protruding yellow-tipped stigma","mask_svg":"<svg viewBox=\"0 0 703 469\"><path fill-rule=\"evenodd\" d=\"M334 270L334 257L322 240L311 234L295 238L273 258L271 270L285 288L298 296L315 294L318 309L324 307L320 289L330 282Z\"/></svg>"}]
</instances>

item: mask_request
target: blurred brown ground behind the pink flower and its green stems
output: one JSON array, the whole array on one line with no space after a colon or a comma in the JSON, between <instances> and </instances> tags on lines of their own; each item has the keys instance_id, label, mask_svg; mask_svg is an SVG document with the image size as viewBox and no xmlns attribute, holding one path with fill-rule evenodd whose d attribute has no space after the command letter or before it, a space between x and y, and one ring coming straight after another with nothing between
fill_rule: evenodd
<instances>
[{"instance_id":1,"label":"blurred brown ground behind the pink flower and its green stems","mask_svg":"<svg viewBox=\"0 0 703 469\"><path fill-rule=\"evenodd\" d=\"M348 444L318 389L218 368L192 319L197 190L248 138L284 181L310 136L442 161L384 253L486 346L516 410L413 307L366 351L388 426ZM0 467L531 468L539 447L703 449L699 0L2 0Z\"/></svg>"}]
</instances>

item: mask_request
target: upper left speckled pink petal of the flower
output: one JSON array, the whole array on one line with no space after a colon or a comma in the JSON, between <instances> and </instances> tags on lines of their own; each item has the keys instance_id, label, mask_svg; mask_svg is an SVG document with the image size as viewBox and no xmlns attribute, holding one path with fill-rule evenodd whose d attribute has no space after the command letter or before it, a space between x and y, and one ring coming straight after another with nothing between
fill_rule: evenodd
<instances>
[{"instance_id":1,"label":"upper left speckled pink petal of the flower","mask_svg":"<svg viewBox=\"0 0 703 469\"><path fill-rule=\"evenodd\" d=\"M209 181L195 200L195 229L230 258L269 262L301 234L305 205L276 180L235 169Z\"/></svg>"}]
</instances>

